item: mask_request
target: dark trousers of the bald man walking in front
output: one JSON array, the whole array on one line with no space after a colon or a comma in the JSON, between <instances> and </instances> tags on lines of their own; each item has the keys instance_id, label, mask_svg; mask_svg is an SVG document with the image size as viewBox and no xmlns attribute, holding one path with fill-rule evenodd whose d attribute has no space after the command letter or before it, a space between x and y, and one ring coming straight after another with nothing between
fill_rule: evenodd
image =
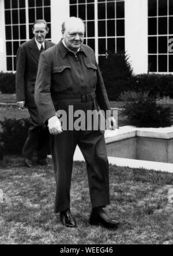
<instances>
[{"instance_id":1,"label":"dark trousers of the bald man walking in front","mask_svg":"<svg viewBox=\"0 0 173 256\"><path fill-rule=\"evenodd\" d=\"M92 107L91 103L85 103L76 104L76 108L85 111L89 108L89 104ZM57 186L55 213L70 207L70 186L76 145L80 147L86 161L92 207L110 204L108 159L104 133L100 130L67 130L57 136L51 136L51 153Z\"/></svg>"}]
</instances>

